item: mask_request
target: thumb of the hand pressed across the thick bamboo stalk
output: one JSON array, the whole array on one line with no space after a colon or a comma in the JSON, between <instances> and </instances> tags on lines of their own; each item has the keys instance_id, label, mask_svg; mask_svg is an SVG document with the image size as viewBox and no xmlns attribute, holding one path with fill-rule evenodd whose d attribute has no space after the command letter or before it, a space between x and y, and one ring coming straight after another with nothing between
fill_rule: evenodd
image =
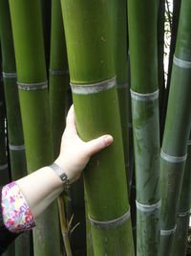
<instances>
[{"instance_id":1,"label":"thumb of the hand pressed across the thick bamboo stalk","mask_svg":"<svg viewBox=\"0 0 191 256\"><path fill-rule=\"evenodd\" d=\"M92 156L96 152L105 149L107 146L111 145L113 141L114 138L111 135L103 135L95 140L87 142L86 147L88 155Z\"/></svg>"}]
</instances>

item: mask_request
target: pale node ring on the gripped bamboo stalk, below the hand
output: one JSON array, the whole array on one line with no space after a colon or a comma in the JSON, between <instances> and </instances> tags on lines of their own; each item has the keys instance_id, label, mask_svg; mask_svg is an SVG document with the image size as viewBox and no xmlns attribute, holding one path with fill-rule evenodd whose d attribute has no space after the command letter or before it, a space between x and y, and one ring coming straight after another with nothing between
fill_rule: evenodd
<instances>
[{"instance_id":1,"label":"pale node ring on the gripped bamboo stalk, below the hand","mask_svg":"<svg viewBox=\"0 0 191 256\"><path fill-rule=\"evenodd\" d=\"M89 215L88 218L92 224L92 226L95 226L98 229L113 229L117 228L118 226L121 226L126 221L128 221L131 217L130 209L121 217L111 220L111 221L96 221L92 219Z\"/></svg>"}]
</instances>

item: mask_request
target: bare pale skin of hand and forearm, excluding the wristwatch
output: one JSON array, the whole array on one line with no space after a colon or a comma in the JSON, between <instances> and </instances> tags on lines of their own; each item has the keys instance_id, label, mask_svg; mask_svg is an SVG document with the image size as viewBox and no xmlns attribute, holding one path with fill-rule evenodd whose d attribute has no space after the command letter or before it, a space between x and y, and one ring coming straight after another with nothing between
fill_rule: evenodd
<instances>
[{"instance_id":1,"label":"bare pale skin of hand and forearm, excluding the wristwatch","mask_svg":"<svg viewBox=\"0 0 191 256\"><path fill-rule=\"evenodd\" d=\"M70 183L73 183L79 178L91 156L108 147L112 142L111 135L103 135L89 142L82 141L77 134L72 105L62 135L60 154L54 163L64 170ZM48 166L37 170L32 175L18 179L16 183L26 198L34 218L64 190L61 179Z\"/></svg>"}]
</instances>

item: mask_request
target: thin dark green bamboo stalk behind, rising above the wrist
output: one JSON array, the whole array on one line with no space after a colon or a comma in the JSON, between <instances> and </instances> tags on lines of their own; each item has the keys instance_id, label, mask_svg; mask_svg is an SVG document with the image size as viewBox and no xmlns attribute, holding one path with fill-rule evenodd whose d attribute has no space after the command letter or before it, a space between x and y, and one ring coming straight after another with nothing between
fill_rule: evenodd
<instances>
[{"instance_id":1,"label":"thin dark green bamboo stalk behind, rising above the wrist","mask_svg":"<svg viewBox=\"0 0 191 256\"><path fill-rule=\"evenodd\" d=\"M59 154L61 136L65 128L66 92L69 84L68 61L59 0L52 3L52 32L49 96L53 130L53 151Z\"/></svg>"}]
</instances>

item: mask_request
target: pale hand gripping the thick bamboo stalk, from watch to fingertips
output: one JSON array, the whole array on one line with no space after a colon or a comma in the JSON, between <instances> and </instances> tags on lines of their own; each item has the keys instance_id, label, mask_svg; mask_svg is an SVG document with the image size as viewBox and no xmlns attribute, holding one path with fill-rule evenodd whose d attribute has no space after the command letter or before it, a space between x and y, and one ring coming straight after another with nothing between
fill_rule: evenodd
<instances>
[{"instance_id":1,"label":"pale hand gripping the thick bamboo stalk, from watch to fingertips","mask_svg":"<svg viewBox=\"0 0 191 256\"><path fill-rule=\"evenodd\" d=\"M111 135L103 135L89 142L82 141L77 134L74 105L72 105L62 135L60 154L54 162L64 170L70 183L72 183L79 178L91 156L111 145L112 142L113 137Z\"/></svg>"}]
</instances>

